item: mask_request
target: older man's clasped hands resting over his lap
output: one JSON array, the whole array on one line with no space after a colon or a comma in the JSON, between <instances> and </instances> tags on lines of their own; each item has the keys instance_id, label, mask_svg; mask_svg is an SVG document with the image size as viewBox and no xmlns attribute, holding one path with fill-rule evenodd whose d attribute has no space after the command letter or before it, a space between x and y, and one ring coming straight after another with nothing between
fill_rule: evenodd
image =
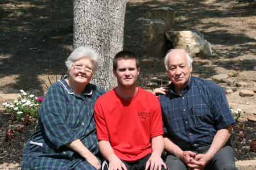
<instances>
[{"instance_id":1,"label":"older man's clasped hands resting over his lap","mask_svg":"<svg viewBox=\"0 0 256 170\"><path fill-rule=\"evenodd\" d=\"M191 158L191 164L188 164L189 168L193 170L203 170L208 164L210 157L207 154L196 155L195 158Z\"/></svg>"}]
</instances>

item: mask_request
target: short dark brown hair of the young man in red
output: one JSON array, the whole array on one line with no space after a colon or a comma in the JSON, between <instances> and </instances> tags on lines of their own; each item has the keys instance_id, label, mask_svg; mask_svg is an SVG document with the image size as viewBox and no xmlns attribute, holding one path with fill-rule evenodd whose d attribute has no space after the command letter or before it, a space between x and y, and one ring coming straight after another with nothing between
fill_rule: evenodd
<instances>
[{"instance_id":1,"label":"short dark brown hair of the young man in red","mask_svg":"<svg viewBox=\"0 0 256 170\"><path fill-rule=\"evenodd\" d=\"M129 50L123 50L117 54L115 54L115 57L113 59L113 69L117 70L117 62L121 59L134 59L136 62L136 67L139 69L139 58L134 54L133 52Z\"/></svg>"}]
</instances>

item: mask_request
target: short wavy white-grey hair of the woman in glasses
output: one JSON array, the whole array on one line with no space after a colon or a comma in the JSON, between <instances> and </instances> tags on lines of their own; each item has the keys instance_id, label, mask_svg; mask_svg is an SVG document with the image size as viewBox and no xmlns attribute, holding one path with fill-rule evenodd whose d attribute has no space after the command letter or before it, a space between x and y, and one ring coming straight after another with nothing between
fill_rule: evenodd
<instances>
[{"instance_id":1,"label":"short wavy white-grey hair of the woman in glasses","mask_svg":"<svg viewBox=\"0 0 256 170\"><path fill-rule=\"evenodd\" d=\"M81 57L88 57L91 59L93 62L93 74L97 71L98 63L100 62L100 55L96 52L96 50L88 45L80 46L79 48L73 50L65 62L66 66L68 67L68 76L73 63Z\"/></svg>"}]
</instances>

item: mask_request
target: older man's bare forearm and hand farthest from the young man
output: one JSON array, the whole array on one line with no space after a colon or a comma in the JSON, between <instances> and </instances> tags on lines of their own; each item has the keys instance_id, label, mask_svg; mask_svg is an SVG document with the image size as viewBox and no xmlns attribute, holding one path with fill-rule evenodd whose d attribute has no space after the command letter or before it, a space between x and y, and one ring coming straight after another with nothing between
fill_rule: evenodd
<instances>
[{"instance_id":1,"label":"older man's bare forearm and hand farthest from the young man","mask_svg":"<svg viewBox=\"0 0 256 170\"><path fill-rule=\"evenodd\" d=\"M232 134L233 127L232 125L228 125L225 128L222 128L217 131L216 135L213 138L212 145L206 154L196 155L193 160L191 160L192 164L199 165L198 169L204 169L205 165L209 162L210 159L219 151L222 147L225 146L228 141L230 135ZM198 161L197 161L197 160ZM189 167L193 168L193 165L189 165Z\"/></svg>"}]
</instances>

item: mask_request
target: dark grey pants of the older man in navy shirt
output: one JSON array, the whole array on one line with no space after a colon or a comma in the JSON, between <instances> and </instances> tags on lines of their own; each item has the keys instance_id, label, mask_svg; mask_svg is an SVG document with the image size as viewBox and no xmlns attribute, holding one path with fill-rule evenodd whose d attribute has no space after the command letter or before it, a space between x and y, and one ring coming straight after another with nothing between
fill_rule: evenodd
<instances>
[{"instance_id":1,"label":"dark grey pants of the older man in navy shirt","mask_svg":"<svg viewBox=\"0 0 256 170\"><path fill-rule=\"evenodd\" d=\"M209 146L199 147L195 150L183 150L183 151L192 151L196 154L205 154L210 148ZM166 165L169 169L175 170L187 170L188 167L180 159L176 158L173 155L167 155ZM212 159L210 159L207 167L207 170L237 170L234 160L234 153L232 146L226 145L222 147Z\"/></svg>"}]
</instances>

